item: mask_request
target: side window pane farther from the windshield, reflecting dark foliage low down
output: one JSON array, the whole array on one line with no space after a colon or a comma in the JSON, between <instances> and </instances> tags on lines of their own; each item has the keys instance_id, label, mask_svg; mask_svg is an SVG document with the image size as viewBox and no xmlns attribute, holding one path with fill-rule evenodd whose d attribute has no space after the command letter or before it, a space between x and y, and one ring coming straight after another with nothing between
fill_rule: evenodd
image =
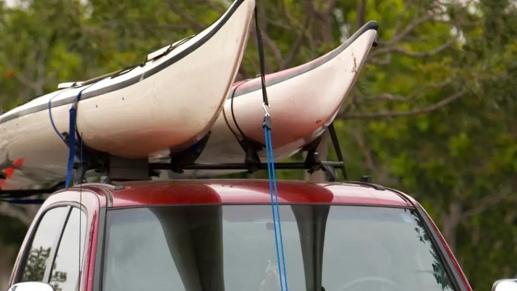
<instances>
[{"instance_id":1,"label":"side window pane farther from the windshield, reflecting dark foliage low down","mask_svg":"<svg viewBox=\"0 0 517 291\"><path fill-rule=\"evenodd\" d=\"M69 208L56 207L43 214L27 256L20 282L43 281L49 255L63 230Z\"/></svg>"}]
</instances>

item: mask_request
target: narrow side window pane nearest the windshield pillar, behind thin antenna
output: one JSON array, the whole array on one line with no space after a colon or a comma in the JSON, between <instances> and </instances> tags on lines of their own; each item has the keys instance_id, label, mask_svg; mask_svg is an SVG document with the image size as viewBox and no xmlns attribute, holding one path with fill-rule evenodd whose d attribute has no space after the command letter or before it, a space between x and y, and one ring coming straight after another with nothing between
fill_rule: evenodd
<instances>
[{"instance_id":1,"label":"narrow side window pane nearest the windshield pillar, behind thin antenna","mask_svg":"<svg viewBox=\"0 0 517 291\"><path fill-rule=\"evenodd\" d=\"M79 289L86 225L86 214L79 208L72 208L57 248L50 276L50 284L54 285L56 291Z\"/></svg>"}]
</instances>

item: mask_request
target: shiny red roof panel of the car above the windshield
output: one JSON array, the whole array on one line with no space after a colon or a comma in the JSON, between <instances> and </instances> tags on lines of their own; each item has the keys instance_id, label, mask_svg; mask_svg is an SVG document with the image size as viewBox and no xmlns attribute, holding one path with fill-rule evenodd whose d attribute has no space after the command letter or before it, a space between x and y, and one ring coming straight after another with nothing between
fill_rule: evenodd
<instances>
[{"instance_id":1,"label":"shiny red roof panel of the car above the windshield","mask_svg":"<svg viewBox=\"0 0 517 291\"><path fill-rule=\"evenodd\" d=\"M123 183L113 190L112 207L209 203L270 203L268 180L172 180ZM336 203L413 206L413 199L391 190L348 183L278 181L279 203ZM404 198L403 198L404 197ZM406 200L409 199L412 202Z\"/></svg>"}]
</instances>

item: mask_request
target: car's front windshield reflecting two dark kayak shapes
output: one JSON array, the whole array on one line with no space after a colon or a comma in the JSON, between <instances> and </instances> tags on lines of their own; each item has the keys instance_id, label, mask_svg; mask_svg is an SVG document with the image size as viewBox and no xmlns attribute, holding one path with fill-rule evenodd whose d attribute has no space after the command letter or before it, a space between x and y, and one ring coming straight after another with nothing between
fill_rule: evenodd
<instances>
[{"instance_id":1,"label":"car's front windshield reflecting two dark kayak shapes","mask_svg":"<svg viewBox=\"0 0 517 291\"><path fill-rule=\"evenodd\" d=\"M453 289L412 210L280 205L280 216L288 290ZM104 291L280 290L271 205L112 209L107 219Z\"/></svg>"}]
</instances>

